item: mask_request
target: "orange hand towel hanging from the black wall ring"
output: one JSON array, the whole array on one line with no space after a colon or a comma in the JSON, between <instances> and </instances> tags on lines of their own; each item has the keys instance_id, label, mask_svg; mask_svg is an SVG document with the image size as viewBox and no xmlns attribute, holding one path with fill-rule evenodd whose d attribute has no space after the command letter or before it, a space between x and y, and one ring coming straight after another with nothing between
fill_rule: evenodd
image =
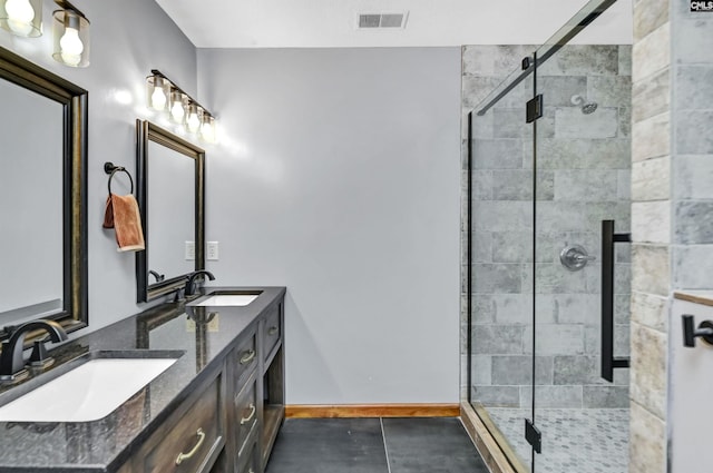
<instances>
[{"instance_id":1,"label":"orange hand towel hanging from the black wall ring","mask_svg":"<svg viewBox=\"0 0 713 473\"><path fill-rule=\"evenodd\" d=\"M144 245L141 215L133 195L110 194L104 213L104 228L114 228L118 252L140 252Z\"/></svg>"}]
</instances>

